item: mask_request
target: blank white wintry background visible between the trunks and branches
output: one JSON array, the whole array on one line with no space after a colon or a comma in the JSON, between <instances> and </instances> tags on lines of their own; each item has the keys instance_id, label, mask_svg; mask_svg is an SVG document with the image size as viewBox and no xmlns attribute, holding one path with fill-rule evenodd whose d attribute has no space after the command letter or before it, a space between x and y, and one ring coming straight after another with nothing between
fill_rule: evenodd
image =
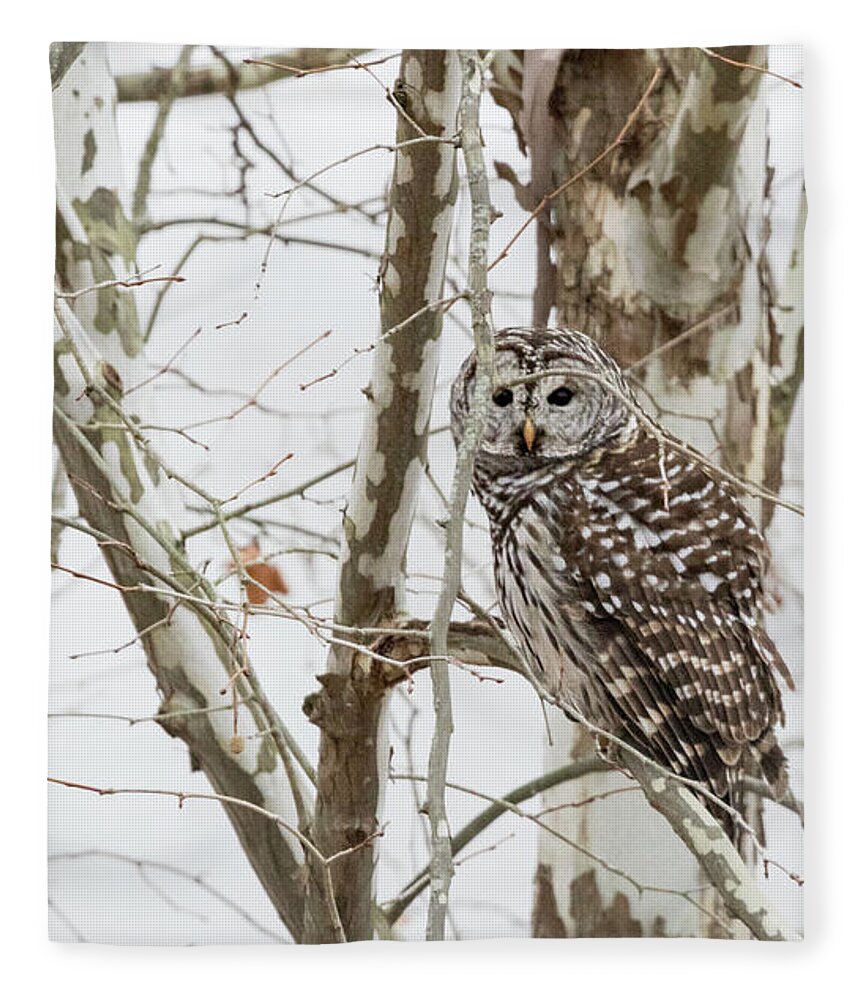
<instances>
[{"instance_id":1,"label":"blank white wintry background visible between the trunks and branches","mask_svg":"<svg viewBox=\"0 0 860 1000\"><path fill-rule=\"evenodd\" d=\"M262 49L226 51L234 59L263 54ZM116 45L110 49L117 74L171 66L178 54L178 46ZM198 48L195 55L195 62L211 60L205 47ZM772 49L770 64L779 72L799 77L799 49ZM375 72L390 86L397 65L397 60L392 60L375 67ZM771 249L779 275L790 252L801 182L800 96L770 78L762 81L762 88L777 140L772 147L777 173ZM356 149L390 142L393 134L393 112L382 87L358 71L284 80L262 91L240 92L238 100L260 136L300 177ZM153 104L118 107L130 183L136 177L154 115ZM508 113L487 98L483 115L488 162L504 161L527 179L528 164L517 149ZM197 97L174 105L156 160L156 194L150 201L150 214L159 221L197 221L166 226L147 235L139 258L143 268L161 265L162 273L172 271L201 232L220 238L236 235L227 227L202 225L201 219L218 217L262 229L275 218L279 203L268 192L283 190L288 182L265 154L249 146L247 138L244 148L255 166L246 176L246 203L231 194L240 176L230 132L234 124L235 115L223 96ZM370 153L326 174L319 184L350 203L368 199L366 209L376 212L384 207L390 168L390 154ZM504 213L492 230L494 254L525 216L509 185L494 180L491 191L495 205ZM197 248L181 270L187 281L172 287L160 307L147 347L153 370L202 327L202 333L176 362L188 378L166 374L155 383L153 398L161 422L180 426L225 417L240 405L242 394L254 393L285 358L323 331L333 331L264 390L260 402L267 412L251 408L235 420L221 419L189 430L209 451L174 434L156 438L168 461L215 495L230 495L263 475L288 452L295 453L295 458L276 477L255 487L246 499L283 491L355 454L361 432L360 390L368 379L371 355L356 357L336 378L307 391L299 387L339 365L355 349L367 347L377 335L374 277L385 220L382 214L376 223L354 212L319 214L327 208L325 201L306 190L290 201L280 231L308 242L275 244L258 298L254 297L254 285L267 239L219 239ZM458 287L464 282L467 223L468 202L461 198L449 266L449 275ZM348 249L333 250L312 242ZM493 272L498 328L529 322L533 281L532 240L527 236L511 258ZM145 324L156 291L141 289L137 301ZM216 329L244 312L248 317L241 324ZM431 429L447 424L450 382L470 348L466 312L458 303L445 321ZM193 388L188 379L206 391ZM801 492L801 410L798 406L786 451L786 493L794 500ZM452 455L448 434L434 434L430 466L443 490L449 485ZM303 497L265 507L259 512L262 524L233 522L237 542L246 544L256 537L264 552L287 547L321 550L275 560L289 585L290 601L313 605L318 613L330 611L330 605L323 602L333 592L336 562L331 556L339 544L349 482L347 471L309 489ZM426 486L409 553L410 606L417 615L429 616L434 604L442 537L436 521L442 513L440 500ZM474 527L468 529L464 586L486 605L493 596L485 522L477 505L470 506L469 517ZM194 522L195 515L189 512L188 523ZM795 676L801 677L801 533L794 515L778 511L771 540L781 598L771 630ZM210 575L223 573L228 556L217 533L196 536L189 546L198 565L211 561ZM61 562L96 576L105 572L94 544L72 532L64 535ZM234 596L238 596L237 591ZM131 636L127 616L114 592L56 575L49 711L130 717L155 712L154 683L138 647L117 654L79 655L112 649ZM252 620L249 648L269 697L314 759L317 730L305 719L301 704L315 687L314 675L322 669L324 648L302 626L265 618ZM501 673L496 676L503 683L452 673L456 731L449 778L503 796L541 773L545 729L540 707L526 683ZM429 677L419 675L411 693L398 690L391 704L394 767L423 773L433 726ZM803 791L797 749L800 704L799 695L789 698L785 734L789 746L795 748L791 759L798 795ZM115 720L58 716L49 721L48 732L52 774L100 786L208 790L201 775L189 772L184 745L170 740L152 723L129 727ZM420 791L416 793L408 782L392 783L386 790L384 820L388 826L378 852L380 901L395 896L426 862L425 822L416 815L416 794ZM452 828L459 829L484 804L450 792ZM772 853L789 867L801 869L797 824L793 818L779 819L772 826ZM535 834L531 824L506 816L470 846L467 855L497 845L457 869L451 897L453 935L529 934ZM268 899L215 804L192 802L180 811L175 803L151 798L96 800L64 789L51 790L49 854L50 929L55 939L160 944L283 939ZM161 867L141 866L141 862ZM799 926L800 892L786 891L784 884L773 888L779 893L781 909L790 914L794 926ZM229 903L210 890L223 894ZM419 901L407 911L397 931L399 936L412 939L423 937L423 930L424 905Z\"/></svg>"}]
</instances>

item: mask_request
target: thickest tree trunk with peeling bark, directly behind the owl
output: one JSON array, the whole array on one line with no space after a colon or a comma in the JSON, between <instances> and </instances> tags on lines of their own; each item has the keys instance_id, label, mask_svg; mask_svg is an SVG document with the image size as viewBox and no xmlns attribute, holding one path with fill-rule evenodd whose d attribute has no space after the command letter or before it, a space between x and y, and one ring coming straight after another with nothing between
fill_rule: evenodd
<instances>
[{"instance_id":1,"label":"thickest tree trunk with peeling bark, directly behind the owl","mask_svg":"<svg viewBox=\"0 0 860 1000\"><path fill-rule=\"evenodd\" d=\"M760 48L720 52L765 64ZM528 54L519 120L535 163L531 197L537 204L616 140L655 70L656 86L624 141L560 194L553 219L542 224L539 254L550 232L555 265L547 249L538 264L536 316L547 318L554 304L559 326L595 337L626 367L719 314L710 328L635 374L663 422L706 454L715 445L711 426L722 438L737 425L723 460L737 462L738 471L757 480L771 470L766 485L778 488L781 438L768 425L761 393L780 357L780 339L763 317L762 265L750 249L766 246L766 239L749 239L767 192L749 177L741 183L739 172L760 74L695 49ZM546 93L548 99L536 106L535 96ZM764 132L757 138L752 156L764 165ZM554 301L541 304L546 275L553 271ZM753 329L759 334L751 336ZM782 357L788 356L794 373L796 333L786 340ZM762 412L762 434L751 435L761 427ZM740 440L751 436L755 458L740 456ZM593 753L588 733L558 715L552 728L547 770ZM592 801L551 812L547 821L640 883L677 890L696 885L701 877L685 847L638 790L619 791L625 786L629 782L618 775L592 774L577 782L574 793L571 786L552 789L544 795L547 808L574 797ZM637 893L546 834L539 842L533 931L549 937L724 933L688 900Z\"/></svg>"}]
</instances>

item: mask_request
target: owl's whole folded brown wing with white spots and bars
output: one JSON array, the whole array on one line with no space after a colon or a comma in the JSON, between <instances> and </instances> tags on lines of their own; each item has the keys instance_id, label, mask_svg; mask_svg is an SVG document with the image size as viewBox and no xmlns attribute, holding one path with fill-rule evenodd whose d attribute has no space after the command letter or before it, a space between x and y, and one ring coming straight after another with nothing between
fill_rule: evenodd
<instances>
[{"instance_id":1,"label":"owl's whole folded brown wing with white spots and bars","mask_svg":"<svg viewBox=\"0 0 860 1000\"><path fill-rule=\"evenodd\" d=\"M625 731L668 745L666 763L704 772L722 795L744 748L775 742L774 671L790 682L759 623L764 542L698 463L667 456L667 496L653 469L632 477L630 459L617 478L601 463L566 524L578 599L600 636L592 669Z\"/></svg>"}]
</instances>

